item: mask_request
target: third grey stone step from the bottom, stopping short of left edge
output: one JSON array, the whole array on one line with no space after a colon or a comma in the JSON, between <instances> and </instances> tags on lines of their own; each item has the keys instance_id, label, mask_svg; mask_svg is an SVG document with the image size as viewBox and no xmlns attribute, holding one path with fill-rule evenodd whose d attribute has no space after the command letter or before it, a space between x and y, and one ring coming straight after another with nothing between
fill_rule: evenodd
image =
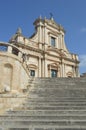
<instances>
[{"instance_id":1,"label":"third grey stone step from the bottom, stopping short of left edge","mask_svg":"<svg viewBox=\"0 0 86 130\"><path fill-rule=\"evenodd\" d=\"M17 116L58 116L58 115L74 115L74 116L85 116L86 115L86 110L81 109L81 110L25 110L25 109L20 109L20 110L14 110L14 111L7 111L6 115L17 115Z\"/></svg>"}]
</instances>

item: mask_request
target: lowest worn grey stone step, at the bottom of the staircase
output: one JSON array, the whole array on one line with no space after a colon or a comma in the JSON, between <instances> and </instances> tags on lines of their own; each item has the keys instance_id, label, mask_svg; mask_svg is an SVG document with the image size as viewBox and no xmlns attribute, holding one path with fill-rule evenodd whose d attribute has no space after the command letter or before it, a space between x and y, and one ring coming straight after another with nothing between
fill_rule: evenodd
<instances>
[{"instance_id":1,"label":"lowest worn grey stone step, at the bottom of the staircase","mask_svg":"<svg viewBox=\"0 0 86 130\"><path fill-rule=\"evenodd\" d=\"M0 122L0 126L2 127L8 127L8 128L27 128L30 126L61 126L62 128L64 128L64 126L72 126L76 127L79 126L81 128L81 126L86 128L86 120L76 120L73 121L72 119L70 120L58 120L58 121L48 121L48 120L44 120L44 121L5 121L5 122Z\"/></svg>"}]
</instances>

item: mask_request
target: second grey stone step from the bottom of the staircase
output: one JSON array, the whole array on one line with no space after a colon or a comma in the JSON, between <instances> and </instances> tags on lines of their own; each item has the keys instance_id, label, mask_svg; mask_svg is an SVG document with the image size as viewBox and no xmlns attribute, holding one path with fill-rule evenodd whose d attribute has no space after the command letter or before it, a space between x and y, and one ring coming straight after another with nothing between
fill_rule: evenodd
<instances>
[{"instance_id":1,"label":"second grey stone step from the bottom of the staircase","mask_svg":"<svg viewBox=\"0 0 86 130\"><path fill-rule=\"evenodd\" d=\"M86 121L86 115L84 116L75 116L75 115L58 115L58 116L18 116L18 115L12 115L12 116L0 116L0 121Z\"/></svg>"}]
</instances>

